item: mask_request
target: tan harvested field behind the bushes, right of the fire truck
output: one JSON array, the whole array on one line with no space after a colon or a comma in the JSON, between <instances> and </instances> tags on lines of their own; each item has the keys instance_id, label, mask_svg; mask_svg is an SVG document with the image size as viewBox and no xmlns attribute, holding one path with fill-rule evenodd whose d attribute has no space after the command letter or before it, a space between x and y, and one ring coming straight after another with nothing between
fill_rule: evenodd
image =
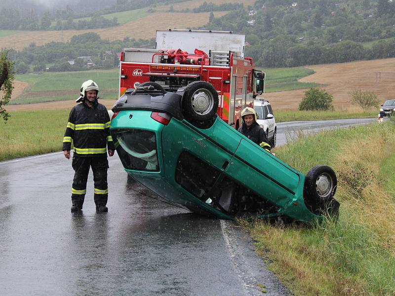
<instances>
[{"instance_id":1,"label":"tan harvested field behind the bushes, right of the fire truck","mask_svg":"<svg viewBox=\"0 0 395 296\"><path fill-rule=\"evenodd\" d=\"M301 82L325 84L320 87L333 95L336 110L355 111L349 94L356 88L373 91L380 102L395 98L395 58L358 61L341 64L307 66L316 73L300 79ZM275 110L297 110L304 97L303 89L265 94Z\"/></svg>"}]
</instances>

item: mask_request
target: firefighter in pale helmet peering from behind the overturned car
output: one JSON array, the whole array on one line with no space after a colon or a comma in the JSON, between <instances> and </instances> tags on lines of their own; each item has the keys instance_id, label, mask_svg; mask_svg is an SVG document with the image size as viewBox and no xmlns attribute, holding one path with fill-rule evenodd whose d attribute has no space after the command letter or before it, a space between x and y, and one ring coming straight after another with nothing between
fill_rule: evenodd
<instances>
[{"instance_id":1,"label":"firefighter in pale helmet peering from behind the overturned car","mask_svg":"<svg viewBox=\"0 0 395 296\"><path fill-rule=\"evenodd\" d=\"M250 107L244 108L241 111L241 118L243 119L243 123L237 131L252 142L264 148L266 151L270 152L272 147L268 144L269 141L266 137L265 131L261 128L258 122L256 122L258 118L255 110Z\"/></svg>"}]
</instances>

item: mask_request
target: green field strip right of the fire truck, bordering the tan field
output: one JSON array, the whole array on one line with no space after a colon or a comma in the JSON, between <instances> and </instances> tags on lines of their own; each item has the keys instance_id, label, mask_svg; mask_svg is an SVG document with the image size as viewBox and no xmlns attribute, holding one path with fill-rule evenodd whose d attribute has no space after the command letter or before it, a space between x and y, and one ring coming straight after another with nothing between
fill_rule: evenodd
<instances>
[{"instance_id":1,"label":"green field strip right of the fire truck, bordering the tan field","mask_svg":"<svg viewBox=\"0 0 395 296\"><path fill-rule=\"evenodd\" d=\"M298 82L298 79L314 74L314 70L304 67L262 68L266 73L266 92L305 89L322 86L319 83Z\"/></svg>"}]
</instances>

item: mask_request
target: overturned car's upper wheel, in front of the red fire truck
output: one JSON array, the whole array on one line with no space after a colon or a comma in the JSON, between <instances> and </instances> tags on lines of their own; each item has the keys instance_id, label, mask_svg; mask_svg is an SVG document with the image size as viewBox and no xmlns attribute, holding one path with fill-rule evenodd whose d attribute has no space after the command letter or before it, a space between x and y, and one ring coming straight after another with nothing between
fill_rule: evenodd
<instances>
[{"instance_id":1,"label":"overturned car's upper wheel, in front of the red fire truck","mask_svg":"<svg viewBox=\"0 0 395 296\"><path fill-rule=\"evenodd\" d=\"M188 121L212 121L218 109L218 93L205 81L190 83L182 98L184 117Z\"/></svg>"}]
</instances>

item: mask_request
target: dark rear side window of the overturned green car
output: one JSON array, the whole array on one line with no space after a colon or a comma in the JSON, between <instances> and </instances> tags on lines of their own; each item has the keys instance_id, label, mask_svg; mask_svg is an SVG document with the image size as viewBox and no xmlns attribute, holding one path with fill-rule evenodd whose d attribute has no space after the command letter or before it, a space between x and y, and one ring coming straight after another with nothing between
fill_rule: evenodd
<instances>
[{"instance_id":1,"label":"dark rear side window of the overturned green car","mask_svg":"<svg viewBox=\"0 0 395 296\"><path fill-rule=\"evenodd\" d=\"M177 161L175 179L188 192L205 201L204 194L211 189L220 173L195 155L183 151Z\"/></svg>"}]
</instances>

